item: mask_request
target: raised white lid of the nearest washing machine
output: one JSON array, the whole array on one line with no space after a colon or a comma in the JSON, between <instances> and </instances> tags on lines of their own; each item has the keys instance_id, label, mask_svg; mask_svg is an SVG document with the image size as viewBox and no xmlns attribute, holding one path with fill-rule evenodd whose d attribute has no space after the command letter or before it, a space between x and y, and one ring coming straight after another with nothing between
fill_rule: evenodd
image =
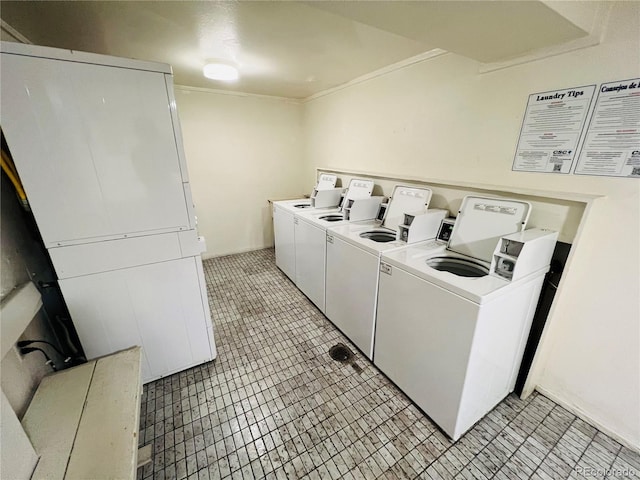
<instances>
[{"instance_id":1,"label":"raised white lid of the nearest washing machine","mask_svg":"<svg viewBox=\"0 0 640 480\"><path fill-rule=\"evenodd\" d=\"M490 262L500 237L524 230L530 212L529 202L466 196L448 249Z\"/></svg>"}]
</instances>

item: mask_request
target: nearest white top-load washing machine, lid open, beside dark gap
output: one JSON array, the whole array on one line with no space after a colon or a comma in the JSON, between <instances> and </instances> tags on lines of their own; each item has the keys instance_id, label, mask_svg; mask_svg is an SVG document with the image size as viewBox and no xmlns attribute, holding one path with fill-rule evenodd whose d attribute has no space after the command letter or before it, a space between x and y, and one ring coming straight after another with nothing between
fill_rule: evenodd
<instances>
[{"instance_id":1,"label":"nearest white top-load washing machine, lid open, beside dark gap","mask_svg":"<svg viewBox=\"0 0 640 480\"><path fill-rule=\"evenodd\" d=\"M515 385L557 241L530 209L466 197L448 246L382 254L374 363L453 440Z\"/></svg>"}]
</instances>

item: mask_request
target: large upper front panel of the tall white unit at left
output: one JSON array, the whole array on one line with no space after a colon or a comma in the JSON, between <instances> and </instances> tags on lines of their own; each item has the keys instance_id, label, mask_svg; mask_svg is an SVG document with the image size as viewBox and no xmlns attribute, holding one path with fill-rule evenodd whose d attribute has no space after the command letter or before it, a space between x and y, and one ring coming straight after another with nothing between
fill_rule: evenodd
<instances>
[{"instance_id":1,"label":"large upper front panel of the tall white unit at left","mask_svg":"<svg viewBox=\"0 0 640 480\"><path fill-rule=\"evenodd\" d=\"M2 54L2 128L48 247L188 227L163 73Z\"/></svg>"}]
</instances>

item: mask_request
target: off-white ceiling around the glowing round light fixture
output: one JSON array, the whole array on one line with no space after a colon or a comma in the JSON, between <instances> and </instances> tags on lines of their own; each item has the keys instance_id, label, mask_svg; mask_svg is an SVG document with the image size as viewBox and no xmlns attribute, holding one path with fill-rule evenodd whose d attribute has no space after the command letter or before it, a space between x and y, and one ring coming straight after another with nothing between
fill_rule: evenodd
<instances>
[{"instance_id":1,"label":"off-white ceiling around the glowing round light fixture","mask_svg":"<svg viewBox=\"0 0 640 480\"><path fill-rule=\"evenodd\" d=\"M306 98L435 48L499 62L586 36L575 5L554 5L565 3L583 2L3 0L0 17L3 39L169 63L181 85ZM240 80L204 78L207 59L235 62Z\"/></svg>"}]
</instances>

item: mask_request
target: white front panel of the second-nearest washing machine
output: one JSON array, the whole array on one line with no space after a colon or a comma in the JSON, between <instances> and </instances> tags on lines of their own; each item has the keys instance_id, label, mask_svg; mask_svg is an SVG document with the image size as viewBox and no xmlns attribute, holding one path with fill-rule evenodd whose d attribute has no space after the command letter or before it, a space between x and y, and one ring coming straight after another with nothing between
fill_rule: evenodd
<instances>
[{"instance_id":1,"label":"white front panel of the second-nearest washing machine","mask_svg":"<svg viewBox=\"0 0 640 480\"><path fill-rule=\"evenodd\" d=\"M372 358L378 256L327 235L326 316Z\"/></svg>"}]
</instances>

